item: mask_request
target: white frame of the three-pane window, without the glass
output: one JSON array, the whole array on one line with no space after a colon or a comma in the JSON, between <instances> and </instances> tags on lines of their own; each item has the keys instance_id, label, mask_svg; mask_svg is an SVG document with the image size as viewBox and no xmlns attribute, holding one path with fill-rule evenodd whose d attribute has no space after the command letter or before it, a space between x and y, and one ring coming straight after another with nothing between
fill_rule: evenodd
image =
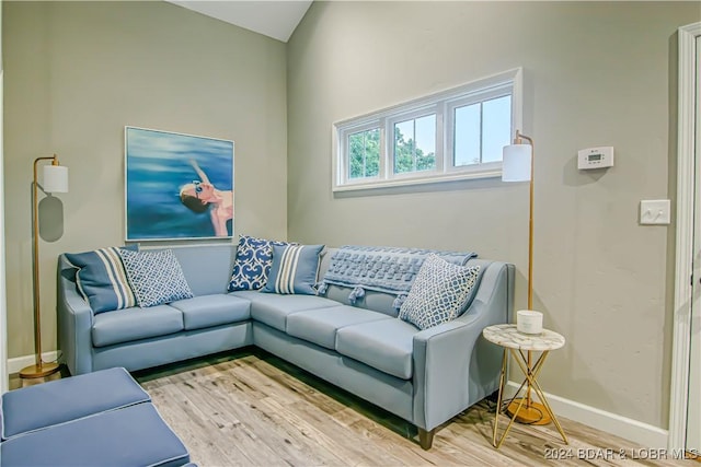
<instances>
[{"instance_id":1,"label":"white frame of the three-pane window, without the glass","mask_svg":"<svg viewBox=\"0 0 701 467\"><path fill-rule=\"evenodd\" d=\"M392 107L348 118L333 125L333 191L349 191L395 186L423 185L502 175L501 162L455 166L455 108L505 95L512 96L512 128L522 128L522 69L515 68L498 74L420 97ZM394 174L394 124L436 115L436 168L434 171ZM380 170L377 177L348 177L348 137L358 131L380 130Z\"/></svg>"}]
</instances>

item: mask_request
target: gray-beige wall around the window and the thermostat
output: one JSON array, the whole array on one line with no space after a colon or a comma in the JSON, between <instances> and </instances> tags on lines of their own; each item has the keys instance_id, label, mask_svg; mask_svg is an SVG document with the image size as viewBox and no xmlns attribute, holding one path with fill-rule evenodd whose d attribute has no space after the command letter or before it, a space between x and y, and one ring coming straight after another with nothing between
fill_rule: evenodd
<instances>
[{"instance_id":1,"label":"gray-beige wall around the window and the thermostat","mask_svg":"<svg viewBox=\"0 0 701 467\"><path fill-rule=\"evenodd\" d=\"M287 50L288 236L473 249L516 264L526 307L527 184L331 191L334 121L524 67L535 308L567 339L541 382L667 427L675 233L637 210L674 197L674 44L700 19L696 2L315 2ZM616 148L616 166L577 171L596 145Z\"/></svg>"}]
</instances>

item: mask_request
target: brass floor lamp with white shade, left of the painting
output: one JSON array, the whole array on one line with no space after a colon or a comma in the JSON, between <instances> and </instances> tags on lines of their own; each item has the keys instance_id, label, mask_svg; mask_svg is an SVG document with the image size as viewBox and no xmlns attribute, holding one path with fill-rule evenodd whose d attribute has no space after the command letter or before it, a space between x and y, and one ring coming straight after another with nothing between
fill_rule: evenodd
<instances>
[{"instance_id":1,"label":"brass floor lamp with white shade, left of the painting","mask_svg":"<svg viewBox=\"0 0 701 467\"><path fill-rule=\"evenodd\" d=\"M34 290L34 350L35 364L26 366L20 371L20 377L43 377L58 371L58 363L46 363L42 360L42 307L39 306L39 214L38 214L38 180L37 166L41 161L51 161L50 165L44 165L44 178L42 190L46 194L68 191L68 167L58 163L58 157L37 157L34 160L34 183L32 186L32 235L34 244L32 257L34 259L33 290Z\"/></svg>"}]
</instances>

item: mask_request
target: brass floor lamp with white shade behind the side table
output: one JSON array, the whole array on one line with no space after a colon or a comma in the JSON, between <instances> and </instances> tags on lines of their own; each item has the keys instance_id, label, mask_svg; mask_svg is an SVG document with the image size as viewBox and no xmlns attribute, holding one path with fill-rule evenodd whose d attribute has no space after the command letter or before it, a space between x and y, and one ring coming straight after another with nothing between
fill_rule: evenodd
<instances>
[{"instance_id":1,"label":"brass floor lamp with white shade behind the side table","mask_svg":"<svg viewBox=\"0 0 701 467\"><path fill-rule=\"evenodd\" d=\"M527 141L527 143L525 142ZM530 182L530 202L528 215L528 310L533 310L533 140L516 130L514 144L504 147L502 180ZM531 351L528 351L528 367L531 367ZM506 409L514 415L520 399L514 399ZM548 424L550 416L542 404L531 398L530 382L526 386L526 400L516 420L520 423Z\"/></svg>"}]
</instances>

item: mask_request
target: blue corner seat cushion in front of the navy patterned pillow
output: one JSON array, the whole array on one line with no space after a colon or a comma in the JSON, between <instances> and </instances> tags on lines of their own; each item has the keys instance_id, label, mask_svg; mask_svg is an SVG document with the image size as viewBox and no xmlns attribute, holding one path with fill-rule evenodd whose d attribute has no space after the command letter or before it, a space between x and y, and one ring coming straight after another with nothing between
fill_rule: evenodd
<instances>
[{"instance_id":1,"label":"blue corner seat cushion in front of the navy patterned pillow","mask_svg":"<svg viewBox=\"0 0 701 467\"><path fill-rule=\"evenodd\" d=\"M251 317L283 332L287 332L288 315L307 310L342 306L338 302L315 295L279 295L250 290L232 292L231 295L251 301Z\"/></svg>"}]
</instances>

